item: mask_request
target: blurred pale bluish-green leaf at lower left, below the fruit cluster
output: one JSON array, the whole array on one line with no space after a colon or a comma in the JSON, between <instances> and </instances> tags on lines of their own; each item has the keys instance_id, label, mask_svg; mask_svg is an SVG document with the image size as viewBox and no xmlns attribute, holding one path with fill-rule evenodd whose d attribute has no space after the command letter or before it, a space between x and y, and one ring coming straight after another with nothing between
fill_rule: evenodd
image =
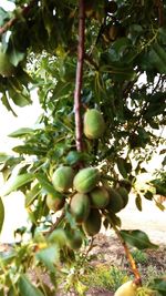
<instances>
[{"instance_id":1,"label":"blurred pale bluish-green leaf at lower left, below the fruit cluster","mask_svg":"<svg viewBox=\"0 0 166 296\"><path fill-rule=\"evenodd\" d=\"M59 262L60 249L56 245L53 245L39 251L35 257L37 259L42 262L50 269L50 272L54 273L55 272L54 264Z\"/></svg>"}]
</instances>

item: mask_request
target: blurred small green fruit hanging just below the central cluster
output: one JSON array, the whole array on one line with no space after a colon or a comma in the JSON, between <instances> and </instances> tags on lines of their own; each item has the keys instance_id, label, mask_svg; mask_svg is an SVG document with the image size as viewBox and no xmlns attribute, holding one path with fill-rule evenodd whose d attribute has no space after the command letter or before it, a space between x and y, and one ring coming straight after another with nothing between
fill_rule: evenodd
<instances>
[{"instance_id":1,"label":"blurred small green fruit hanging just below the central cluster","mask_svg":"<svg viewBox=\"0 0 166 296\"><path fill-rule=\"evenodd\" d=\"M72 249L79 249L82 246L83 239L79 231L66 234L66 245Z\"/></svg>"}]
</instances>

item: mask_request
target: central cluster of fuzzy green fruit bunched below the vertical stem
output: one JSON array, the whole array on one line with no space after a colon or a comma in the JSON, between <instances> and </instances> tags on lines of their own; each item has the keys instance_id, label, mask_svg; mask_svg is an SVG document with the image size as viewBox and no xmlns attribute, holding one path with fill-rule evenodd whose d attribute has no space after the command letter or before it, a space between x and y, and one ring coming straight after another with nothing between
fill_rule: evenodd
<instances>
[{"instance_id":1,"label":"central cluster of fuzzy green fruit bunched below the vertical stem","mask_svg":"<svg viewBox=\"0 0 166 296\"><path fill-rule=\"evenodd\" d=\"M102 210L117 213L128 202L128 193L124 187L100 185L101 181L100 172L95 167L81 169L74 175L72 167L60 166L52 176L53 186L60 195L48 195L46 204L54 211L62 208L65 203L63 194L73 187L70 212L76 223L82 224L86 235L93 236L101 229Z\"/></svg>"}]
</instances>

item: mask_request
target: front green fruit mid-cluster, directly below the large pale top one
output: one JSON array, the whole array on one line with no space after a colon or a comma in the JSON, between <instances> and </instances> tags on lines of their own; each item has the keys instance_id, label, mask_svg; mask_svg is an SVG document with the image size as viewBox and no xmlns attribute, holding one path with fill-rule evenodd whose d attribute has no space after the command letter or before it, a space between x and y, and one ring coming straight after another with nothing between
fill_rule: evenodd
<instances>
[{"instance_id":1,"label":"front green fruit mid-cluster, directly below the large pale top one","mask_svg":"<svg viewBox=\"0 0 166 296\"><path fill-rule=\"evenodd\" d=\"M90 213L90 198L86 194L76 193L71 200L71 213L77 223L85 221Z\"/></svg>"}]
</instances>

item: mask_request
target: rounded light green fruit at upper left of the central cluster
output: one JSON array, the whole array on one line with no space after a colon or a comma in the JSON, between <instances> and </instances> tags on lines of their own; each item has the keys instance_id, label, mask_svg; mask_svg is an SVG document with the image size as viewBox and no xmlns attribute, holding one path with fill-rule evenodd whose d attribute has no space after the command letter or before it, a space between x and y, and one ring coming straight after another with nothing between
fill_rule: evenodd
<instances>
[{"instance_id":1,"label":"rounded light green fruit at upper left of the central cluster","mask_svg":"<svg viewBox=\"0 0 166 296\"><path fill-rule=\"evenodd\" d=\"M56 191L66 192L73 186L74 171L70 166L59 167L52 176L52 183Z\"/></svg>"}]
</instances>

